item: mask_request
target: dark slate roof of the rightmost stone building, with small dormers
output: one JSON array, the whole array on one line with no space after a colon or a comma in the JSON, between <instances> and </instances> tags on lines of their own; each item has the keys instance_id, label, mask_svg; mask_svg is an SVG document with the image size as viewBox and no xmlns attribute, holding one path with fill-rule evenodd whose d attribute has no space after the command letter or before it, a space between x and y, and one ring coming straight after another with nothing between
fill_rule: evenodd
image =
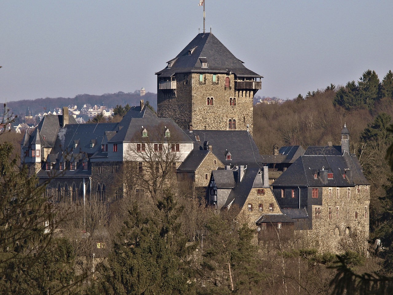
<instances>
[{"instance_id":1,"label":"dark slate roof of the rightmost stone building, with small dormers","mask_svg":"<svg viewBox=\"0 0 393 295\"><path fill-rule=\"evenodd\" d=\"M333 179L324 184L314 174L322 169L333 173ZM351 170L352 179L343 178L345 170ZM345 155L302 155L275 182L274 186L354 186L369 185L364 177L362 167L354 154Z\"/></svg>"}]
</instances>

